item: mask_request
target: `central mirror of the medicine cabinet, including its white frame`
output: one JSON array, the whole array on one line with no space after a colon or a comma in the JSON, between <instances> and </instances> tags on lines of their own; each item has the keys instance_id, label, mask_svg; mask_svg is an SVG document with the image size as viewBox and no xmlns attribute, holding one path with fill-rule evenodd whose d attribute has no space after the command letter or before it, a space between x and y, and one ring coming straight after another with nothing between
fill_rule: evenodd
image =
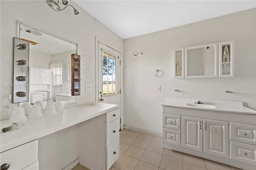
<instances>
[{"instance_id":1,"label":"central mirror of the medicine cabinet, including its white frame","mask_svg":"<svg viewBox=\"0 0 256 170\"><path fill-rule=\"evenodd\" d=\"M218 43L185 48L185 78L218 77Z\"/></svg>"}]
</instances>

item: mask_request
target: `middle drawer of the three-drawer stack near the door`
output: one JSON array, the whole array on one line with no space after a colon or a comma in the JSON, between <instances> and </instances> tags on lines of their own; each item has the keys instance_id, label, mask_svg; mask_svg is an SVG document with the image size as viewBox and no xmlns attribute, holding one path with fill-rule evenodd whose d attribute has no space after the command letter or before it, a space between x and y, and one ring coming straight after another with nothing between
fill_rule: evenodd
<instances>
[{"instance_id":1,"label":"middle drawer of the three-drawer stack near the door","mask_svg":"<svg viewBox=\"0 0 256 170\"><path fill-rule=\"evenodd\" d=\"M110 145L119 137L119 119L107 124L107 145Z\"/></svg>"}]
</instances>

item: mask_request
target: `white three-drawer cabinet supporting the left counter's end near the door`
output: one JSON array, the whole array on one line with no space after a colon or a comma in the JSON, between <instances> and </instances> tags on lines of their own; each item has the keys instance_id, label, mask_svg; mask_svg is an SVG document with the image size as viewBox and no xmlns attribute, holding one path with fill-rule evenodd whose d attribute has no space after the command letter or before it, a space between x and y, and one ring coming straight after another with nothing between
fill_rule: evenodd
<instances>
[{"instance_id":1,"label":"white three-drawer cabinet supporting the left counter's end near the door","mask_svg":"<svg viewBox=\"0 0 256 170\"><path fill-rule=\"evenodd\" d=\"M108 170L119 156L119 108L78 124L79 162Z\"/></svg>"}]
</instances>

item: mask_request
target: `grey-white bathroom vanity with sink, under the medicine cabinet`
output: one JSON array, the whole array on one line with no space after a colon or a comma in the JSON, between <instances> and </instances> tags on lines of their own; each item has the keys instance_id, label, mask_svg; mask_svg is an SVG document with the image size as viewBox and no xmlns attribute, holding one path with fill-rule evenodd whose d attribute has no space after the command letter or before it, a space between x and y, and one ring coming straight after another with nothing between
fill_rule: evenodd
<instances>
[{"instance_id":1,"label":"grey-white bathroom vanity with sink, under the medicine cabinet","mask_svg":"<svg viewBox=\"0 0 256 170\"><path fill-rule=\"evenodd\" d=\"M256 111L242 102L165 98L163 147L256 169Z\"/></svg>"}]
</instances>

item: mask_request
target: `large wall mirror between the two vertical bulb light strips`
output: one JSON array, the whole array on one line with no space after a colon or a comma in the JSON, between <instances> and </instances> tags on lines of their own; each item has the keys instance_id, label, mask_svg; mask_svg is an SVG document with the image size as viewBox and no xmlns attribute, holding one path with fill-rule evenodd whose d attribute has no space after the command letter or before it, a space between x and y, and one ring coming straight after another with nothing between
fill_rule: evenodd
<instances>
[{"instance_id":1,"label":"large wall mirror between the two vertical bulb light strips","mask_svg":"<svg viewBox=\"0 0 256 170\"><path fill-rule=\"evenodd\" d=\"M75 106L76 97L70 91L70 63L77 44L21 21L17 21L17 37L30 42L30 104L41 97L43 101L61 101L63 107Z\"/></svg>"}]
</instances>

